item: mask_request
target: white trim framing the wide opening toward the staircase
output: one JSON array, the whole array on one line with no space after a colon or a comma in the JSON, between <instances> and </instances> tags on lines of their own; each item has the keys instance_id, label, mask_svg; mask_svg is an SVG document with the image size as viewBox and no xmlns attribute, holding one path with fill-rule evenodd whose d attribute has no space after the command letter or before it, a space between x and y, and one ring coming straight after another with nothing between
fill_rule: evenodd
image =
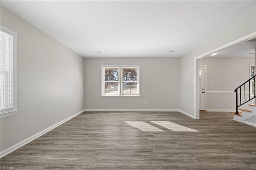
<instances>
[{"instance_id":1,"label":"white trim framing the wide opening toward the staircase","mask_svg":"<svg viewBox=\"0 0 256 170\"><path fill-rule=\"evenodd\" d=\"M246 42L250 39L256 38L256 31L246 35L240 39L237 39L235 41L232 41L228 44L222 45L221 47L218 47L212 51L208 51L207 53L204 53L202 55L199 55L194 58L194 117L195 119L199 119L200 113L199 113L199 59L203 59L204 57L209 56L212 53L216 53L218 51L222 51L223 49L226 49L232 45L236 45L238 43Z\"/></svg>"}]
</instances>

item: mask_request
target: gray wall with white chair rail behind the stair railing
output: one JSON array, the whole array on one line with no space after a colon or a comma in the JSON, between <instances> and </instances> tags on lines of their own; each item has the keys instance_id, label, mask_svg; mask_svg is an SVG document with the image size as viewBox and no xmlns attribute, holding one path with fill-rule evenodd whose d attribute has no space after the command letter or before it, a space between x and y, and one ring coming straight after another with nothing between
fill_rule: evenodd
<instances>
[{"instance_id":1,"label":"gray wall with white chair rail behind the stair railing","mask_svg":"<svg viewBox=\"0 0 256 170\"><path fill-rule=\"evenodd\" d=\"M200 64L207 66L207 109L236 109L234 89L250 78L249 67L254 64L254 57L206 57ZM247 104L241 108L250 109Z\"/></svg>"}]
</instances>

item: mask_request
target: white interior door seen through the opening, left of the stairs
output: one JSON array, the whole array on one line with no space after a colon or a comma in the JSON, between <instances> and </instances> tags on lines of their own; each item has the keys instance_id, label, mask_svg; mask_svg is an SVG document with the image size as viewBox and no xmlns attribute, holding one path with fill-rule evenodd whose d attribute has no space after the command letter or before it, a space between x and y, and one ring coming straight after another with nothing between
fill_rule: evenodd
<instances>
[{"instance_id":1,"label":"white interior door seen through the opening, left of the stairs","mask_svg":"<svg viewBox=\"0 0 256 170\"><path fill-rule=\"evenodd\" d=\"M205 67L200 66L199 70L199 109L205 110Z\"/></svg>"}]
</instances>

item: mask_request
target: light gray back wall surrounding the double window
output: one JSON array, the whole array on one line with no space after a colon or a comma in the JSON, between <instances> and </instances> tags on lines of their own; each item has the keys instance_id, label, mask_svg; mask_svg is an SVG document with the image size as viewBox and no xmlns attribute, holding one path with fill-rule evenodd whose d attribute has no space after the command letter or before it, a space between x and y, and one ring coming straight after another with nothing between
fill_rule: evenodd
<instances>
[{"instance_id":1,"label":"light gray back wall surrounding the double window","mask_svg":"<svg viewBox=\"0 0 256 170\"><path fill-rule=\"evenodd\" d=\"M104 64L140 65L141 97L101 97ZM178 58L86 58L84 69L85 109L179 108Z\"/></svg>"}]
</instances>

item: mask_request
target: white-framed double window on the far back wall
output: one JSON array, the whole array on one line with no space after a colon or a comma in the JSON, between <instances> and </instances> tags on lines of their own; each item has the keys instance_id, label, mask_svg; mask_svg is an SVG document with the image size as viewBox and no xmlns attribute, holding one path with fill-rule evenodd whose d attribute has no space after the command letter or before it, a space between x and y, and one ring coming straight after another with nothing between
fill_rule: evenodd
<instances>
[{"instance_id":1,"label":"white-framed double window on the far back wall","mask_svg":"<svg viewBox=\"0 0 256 170\"><path fill-rule=\"evenodd\" d=\"M140 96L140 66L102 66L102 96Z\"/></svg>"}]
</instances>

